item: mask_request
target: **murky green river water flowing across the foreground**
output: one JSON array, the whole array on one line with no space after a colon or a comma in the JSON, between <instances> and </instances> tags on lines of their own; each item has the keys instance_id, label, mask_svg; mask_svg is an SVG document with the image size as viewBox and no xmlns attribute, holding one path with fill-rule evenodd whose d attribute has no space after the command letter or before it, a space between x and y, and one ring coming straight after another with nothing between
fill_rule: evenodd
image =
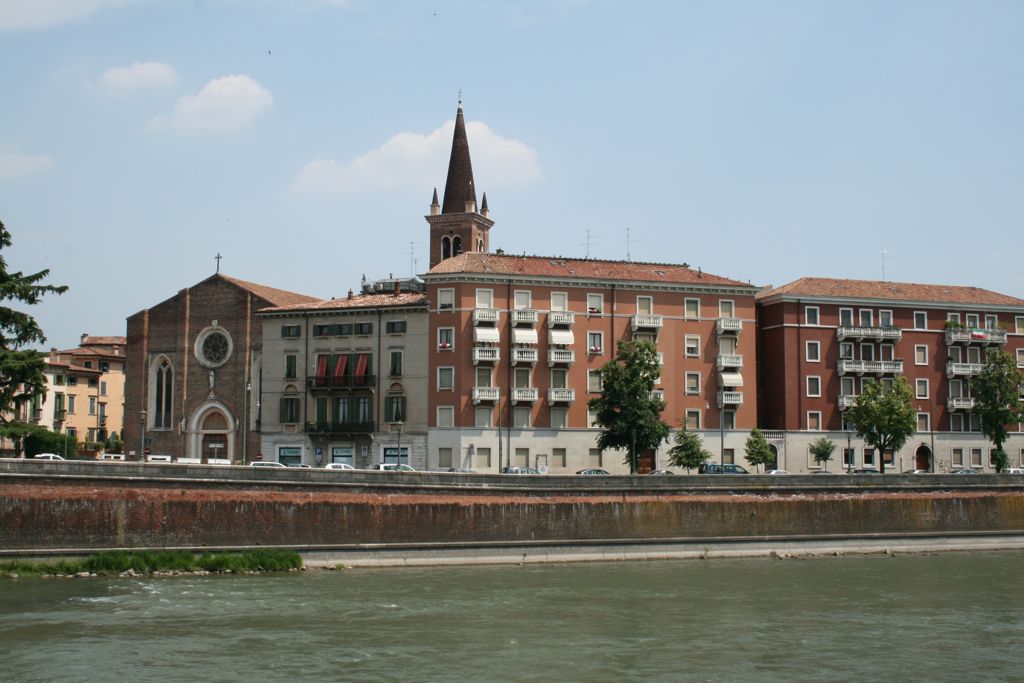
<instances>
[{"instance_id":1,"label":"murky green river water flowing across the foreground","mask_svg":"<svg viewBox=\"0 0 1024 683\"><path fill-rule=\"evenodd\" d=\"M3 681L1024 680L1024 553L0 581Z\"/></svg>"}]
</instances>

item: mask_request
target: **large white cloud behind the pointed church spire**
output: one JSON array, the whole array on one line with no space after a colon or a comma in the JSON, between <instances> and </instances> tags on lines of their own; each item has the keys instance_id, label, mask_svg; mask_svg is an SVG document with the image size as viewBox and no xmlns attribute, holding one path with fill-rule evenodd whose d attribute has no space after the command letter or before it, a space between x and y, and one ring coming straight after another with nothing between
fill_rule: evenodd
<instances>
[{"instance_id":1,"label":"large white cloud behind the pointed church spire","mask_svg":"<svg viewBox=\"0 0 1024 683\"><path fill-rule=\"evenodd\" d=\"M334 160L307 163L292 184L296 193L345 195L375 189L423 191L442 183L452 151L455 122L427 133L398 133L381 146L347 164ZM473 172L483 189L541 179L537 152L519 140L502 137L486 124L466 124Z\"/></svg>"}]
</instances>

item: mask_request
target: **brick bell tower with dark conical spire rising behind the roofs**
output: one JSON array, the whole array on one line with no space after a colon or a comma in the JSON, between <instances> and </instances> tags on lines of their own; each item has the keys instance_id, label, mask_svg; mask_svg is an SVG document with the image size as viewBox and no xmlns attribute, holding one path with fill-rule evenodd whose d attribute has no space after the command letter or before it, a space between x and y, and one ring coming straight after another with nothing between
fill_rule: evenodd
<instances>
[{"instance_id":1,"label":"brick bell tower with dark conical spire rising behind the roofs","mask_svg":"<svg viewBox=\"0 0 1024 683\"><path fill-rule=\"evenodd\" d=\"M476 185L473 183L473 163L469 158L469 139L466 121L462 115L462 101L455 117L455 135L452 138L452 157L444 182L444 202L437 201L434 187L430 215L430 267L465 252L486 252L488 232L495 221L487 217L487 195L477 207Z\"/></svg>"}]
</instances>

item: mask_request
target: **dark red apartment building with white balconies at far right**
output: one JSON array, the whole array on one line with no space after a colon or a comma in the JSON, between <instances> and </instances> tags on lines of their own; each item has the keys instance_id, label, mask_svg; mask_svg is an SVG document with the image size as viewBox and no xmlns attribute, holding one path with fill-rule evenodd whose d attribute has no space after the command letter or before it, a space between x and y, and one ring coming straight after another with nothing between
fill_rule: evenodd
<instances>
[{"instance_id":1,"label":"dark red apartment building with white balconies at far right","mask_svg":"<svg viewBox=\"0 0 1024 683\"><path fill-rule=\"evenodd\" d=\"M784 442L788 469L814 469L807 446L821 432L847 446L846 466L878 467L843 414L864 382L896 377L913 392L918 433L885 456L887 468L990 467L969 380L990 348L1024 368L1024 300L976 287L802 278L758 295L758 421L777 449ZM1019 425L1006 450L1021 462Z\"/></svg>"}]
</instances>

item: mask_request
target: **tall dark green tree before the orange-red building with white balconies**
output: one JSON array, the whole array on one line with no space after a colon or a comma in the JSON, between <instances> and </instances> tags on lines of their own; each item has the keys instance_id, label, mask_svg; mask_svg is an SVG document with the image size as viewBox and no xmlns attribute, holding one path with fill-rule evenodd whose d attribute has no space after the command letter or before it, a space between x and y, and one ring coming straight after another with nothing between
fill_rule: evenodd
<instances>
[{"instance_id":1,"label":"tall dark green tree before the orange-red building with white balconies","mask_svg":"<svg viewBox=\"0 0 1024 683\"><path fill-rule=\"evenodd\" d=\"M637 471L637 453L656 449L669 437L662 420L665 401L652 394L659 374L654 344L621 341L614 359L601 368L601 395L587 403L602 429L597 447L625 449L631 473Z\"/></svg>"}]
</instances>

